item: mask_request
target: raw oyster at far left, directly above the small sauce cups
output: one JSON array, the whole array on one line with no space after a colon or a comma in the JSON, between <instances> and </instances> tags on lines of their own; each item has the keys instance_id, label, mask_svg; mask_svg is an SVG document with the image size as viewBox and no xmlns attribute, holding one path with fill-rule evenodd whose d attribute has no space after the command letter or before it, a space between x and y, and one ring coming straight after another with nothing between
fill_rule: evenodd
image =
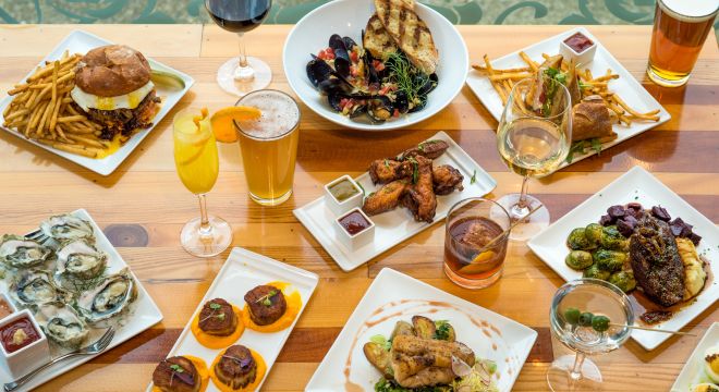
<instances>
[{"instance_id":1,"label":"raw oyster at far left, directly above the small sauce cups","mask_svg":"<svg viewBox=\"0 0 719 392\"><path fill-rule=\"evenodd\" d=\"M72 301L72 294L58 287L50 272L44 270L28 270L21 273L10 285L10 295L22 306Z\"/></svg>"}]
</instances>

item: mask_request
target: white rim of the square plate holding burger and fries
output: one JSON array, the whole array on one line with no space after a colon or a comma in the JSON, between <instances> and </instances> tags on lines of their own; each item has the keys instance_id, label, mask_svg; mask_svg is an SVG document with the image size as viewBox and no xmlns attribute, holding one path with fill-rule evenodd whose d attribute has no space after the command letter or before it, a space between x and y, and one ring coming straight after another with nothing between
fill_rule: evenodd
<instances>
[{"instance_id":1,"label":"white rim of the square plate holding burger and fries","mask_svg":"<svg viewBox=\"0 0 719 392\"><path fill-rule=\"evenodd\" d=\"M82 37L87 37L87 38L90 38L90 39L94 39L94 40L101 41L103 45L114 45L114 41L111 41L109 39L97 36L93 33L83 30L81 28L73 28L54 47L52 47L52 49L50 49L47 52L47 54L44 56L35 66L33 66L29 70L29 72L20 81L20 83L23 83L23 81L27 79L27 77L29 77L35 72L37 66L41 66L42 62L46 61L46 59L48 59L50 53L56 52L56 51L60 50L63 47L66 47L69 45L69 42L71 42L73 39L82 39ZM24 142L31 143L32 145L34 145L36 147L39 147L39 148L41 148L41 149L44 149L48 152L51 152L54 156L63 158L66 161L70 161L74 164L83 167L83 168L85 168L85 169L87 169L92 172L95 172L95 173L103 175L103 176L108 176L108 175L112 174L127 158L130 158L130 156L135 151L135 149L137 149L139 147L139 145L145 140L145 138L155 130L155 127L162 120L164 120L167 114L170 113L170 111L180 102L180 100L182 100L182 98L187 94L187 91L190 91L192 86L195 84L195 79L192 76L187 75L186 73L184 73L182 71L178 71L178 70L175 70L175 69L173 69L173 68L171 68L171 66L169 66L164 63L161 63L161 62L155 60L154 58L148 57L147 61L153 65L159 65L160 68L162 68L167 71L171 71L171 72L180 75L180 77L185 83L185 87L182 90L178 91L178 94L179 94L178 101L174 105L172 105L171 107L168 108L168 112L164 113L164 115L157 117L159 114L159 111L158 111L158 114L156 114L155 119L153 119L154 121L153 121L153 126L151 127L149 127L147 130L141 130L135 135L133 135L133 138L137 138L137 143L134 145L134 147L126 150L126 155L122 159L118 160L117 163L108 164L107 167L103 167L103 166L99 166L99 163L96 163L96 162L101 162L103 159L108 159L110 157L113 157L115 154L120 154L120 150L122 150L122 147L120 148L120 150L115 151L114 154L112 154L112 155L110 155L106 158L93 159L92 161L85 162L84 160L78 159L78 158L83 158L83 157L78 157L78 156L75 156L75 155L70 154L70 152L64 152L64 151L58 150L56 148L52 148L50 146L44 145L41 143L37 143L33 139L26 138L22 133L15 131L15 130L11 130L9 127L2 126L1 124L0 124L0 130L4 131L5 133L8 133L10 135L13 135L13 136L22 139ZM4 119L4 117L2 115L1 112L12 101L12 96L9 96L7 94L7 91L4 91L3 94L4 94L4 96L2 97L2 99L0 99L0 119ZM95 163L95 164L93 164L93 163Z\"/></svg>"}]
</instances>

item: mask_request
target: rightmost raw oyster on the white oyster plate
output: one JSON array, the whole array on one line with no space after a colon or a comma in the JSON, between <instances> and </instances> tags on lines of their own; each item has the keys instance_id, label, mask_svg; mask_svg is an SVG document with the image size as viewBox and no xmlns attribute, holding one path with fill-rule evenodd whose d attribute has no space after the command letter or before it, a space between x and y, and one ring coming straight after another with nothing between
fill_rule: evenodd
<instances>
[{"instance_id":1,"label":"rightmost raw oyster on the white oyster plate","mask_svg":"<svg viewBox=\"0 0 719 392\"><path fill-rule=\"evenodd\" d=\"M130 270L124 268L106 277L95 289L82 293L77 308L87 322L94 323L122 313L136 296L135 280Z\"/></svg>"}]
</instances>

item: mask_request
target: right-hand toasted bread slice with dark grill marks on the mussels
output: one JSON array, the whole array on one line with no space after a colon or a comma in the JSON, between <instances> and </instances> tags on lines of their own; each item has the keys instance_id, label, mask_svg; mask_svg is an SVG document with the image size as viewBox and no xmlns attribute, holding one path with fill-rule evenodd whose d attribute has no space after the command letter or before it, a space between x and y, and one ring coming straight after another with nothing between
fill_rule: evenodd
<instances>
[{"instance_id":1,"label":"right-hand toasted bread slice with dark grill marks on the mussels","mask_svg":"<svg viewBox=\"0 0 719 392\"><path fill-rule=\"evenodd\" d=\"M414 0L375 0L377 16L410 61L427 75L435 73L439 53L425 22L414 11Z\"/></svg>"}]
</instances>

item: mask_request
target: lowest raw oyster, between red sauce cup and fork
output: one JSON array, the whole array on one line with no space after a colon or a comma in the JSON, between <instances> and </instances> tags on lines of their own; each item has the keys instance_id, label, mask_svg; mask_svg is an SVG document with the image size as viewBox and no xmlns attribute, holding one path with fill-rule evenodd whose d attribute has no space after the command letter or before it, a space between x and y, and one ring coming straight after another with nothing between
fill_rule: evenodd
<instances>
[{"instance_id":1,"label":"lowest raw oyster, between red sauce cup and fork","mask_svg":"<svg viewBox=\"0 0 719 392\"><path fill-rule=\"evenodd\" d=\"M63 347L77 348L89 335L85 321L71 306L60 302L39 305L35 318L42 331Z\"/></svg>"}]
</instances>

